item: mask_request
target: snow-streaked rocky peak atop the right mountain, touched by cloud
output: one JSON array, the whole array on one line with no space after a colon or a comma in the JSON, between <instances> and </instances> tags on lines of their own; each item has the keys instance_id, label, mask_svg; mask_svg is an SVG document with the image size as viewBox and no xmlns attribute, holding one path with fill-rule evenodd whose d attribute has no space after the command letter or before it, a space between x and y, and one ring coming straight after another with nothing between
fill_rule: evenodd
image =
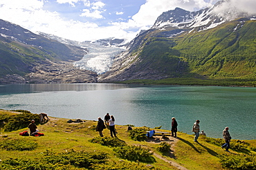
<instances>
[{"instance_id":1,"label":"snow-streaked rocky peak atop the right mountain, touched by cloud","mask_svg":"<svg viewBox=\"0 0 256 170\"><path fill-rule=\"evenodd\" d=\"M163 12L152 26L152 29L165 30L167 27L174 27L197 31L207 30L219 26L221 23L231 21L241 17L250 17L251 20L256 19L255 16L237 10L237 8L230 6L227 8L228 0L219 1L210 8L204 8L195 12L183 10L181 8L175 8L175 10L169 10Z\"/></svg>"}]
</instances>

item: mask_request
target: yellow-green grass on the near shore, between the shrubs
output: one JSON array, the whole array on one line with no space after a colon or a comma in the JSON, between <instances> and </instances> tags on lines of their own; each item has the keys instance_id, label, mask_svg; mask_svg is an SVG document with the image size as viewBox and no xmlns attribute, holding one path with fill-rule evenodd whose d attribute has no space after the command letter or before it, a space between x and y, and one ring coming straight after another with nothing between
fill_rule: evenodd
<instances>
[{"instance_id":1,"label":"yellow-green grass on the near shore, between the shrubs","mask_svg":"<svg viewBox=\"0 0 256 170\"><path fill-rule=\"evenodd\" d=\"M17 113L0 110L0 115L1 114L13 115ZM113 167L116 169L123 169L125 167L129 167L128 169L176 169L175 167L172 167L172 164L154 156L154 159L151 162L129 161L125 159L127 158L127 155L124 155L125 153L120 153L122 154L122 158L120 158L120 154L118 155L116 154L116 151L114 151L115 148L118 150L118 147L108 146L111 144L111 138L107 138L110 137L109 130L107 129L103 131L105 140L102 140L106 146L104 146L104 144L99 144L98 142L91 142L93 139L95 139L94 141L100 140L98 138L98 132L95 131L96 124L97 122L91 120L85 120L85 122L80 123L67 123L66 119L50 117L49 122L46 124L39 124L38 126L39 131L44 133L44 136L41 137L20 136L19 133L22 131L28 131L27 128L20 129L18 131L2 132L2 136L0 136L0 160L7 161L10 158L17 158L17 161L21 161L23 158L26 158L26 161L29 162L47 158L49 161L54 161L51 157L54 155L55 157L58 156L58 159L63 161L63 159L68 158L69 156L73 157L72 154L74 153L72 153L72 151L75 151L75 153L77 153L77 159L80 160L80 164L83 163L81 160L82 158L78 158L79 155L81 155L81 152L89 153L89 155L91 153L106 154L107 159L104 160L104 164L101 163L101 160L99 160L99 162L93 162L93 166L96 166L95 169L104 169L107 167ZM129 136L129 132L127 132L127 126L117 125L116 129L118 131L118 139L116 140L120 140L121 143L125 143L127 146L137 146L138 149L140 149L140 147L149 149L150 151L163 156L163 158L167 160L181 164L187 169L225 169L221 165L220 155L225 155L226 158L229 158L229 155L255 154L256 149L256 140L248 140L246 141L246 145L244 145L247 147L246 151L244 149L241 151L230 149L231 153L226 153L221 149L221 147L219 147L219 144L216 144L217 142L214 138L199 137L199 143L196 143L193 142L192 135L178 132L179 142L171 148L171 150L174 150L174 153L168 154L164 152L163 154L159 151L160 143L145 142L145 140L132 140ZM136 127L133 127L133 129L136 129ZM167 130L162 129L161 131ZM5 141L7 140L10 140L10 142L19 141L19 143L16 142L17 146L19 144L22 146L27 144L26 148L28 149L19 149L19 146L17 147L17 150L6 149ZM129 151L129 148L126 149ZM48 157L46 157L46 153L48 154ZM96 160L93 158L91 161ZM75 164L78 164L78 162ZM48 166L57 165L49 163ZM66 164L65 166L66 169L86 169L83 167L74 167L72 164ZM57 169L57 167L55 167L55 169ZM91 169L93 168L91 167Z\"/></svg>"}]
</instances>

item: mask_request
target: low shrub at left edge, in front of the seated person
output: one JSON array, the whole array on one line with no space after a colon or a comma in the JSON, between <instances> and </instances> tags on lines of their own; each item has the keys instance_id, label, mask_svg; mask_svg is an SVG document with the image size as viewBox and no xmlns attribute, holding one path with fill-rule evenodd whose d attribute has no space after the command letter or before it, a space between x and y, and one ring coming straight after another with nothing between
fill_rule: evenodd
<instances>
[{"instance_id":1,"label":"low shrub at left edge, in front of the seated person","mask_svg":"<svg viewBox=\"0 0 256 170\"><path fill-rule=\"evenodd\" d=\"M5 139L1 142L2 149L7 151L31 151L37 147L37 142L31 139Z\"/></svg>"}]
</instances>

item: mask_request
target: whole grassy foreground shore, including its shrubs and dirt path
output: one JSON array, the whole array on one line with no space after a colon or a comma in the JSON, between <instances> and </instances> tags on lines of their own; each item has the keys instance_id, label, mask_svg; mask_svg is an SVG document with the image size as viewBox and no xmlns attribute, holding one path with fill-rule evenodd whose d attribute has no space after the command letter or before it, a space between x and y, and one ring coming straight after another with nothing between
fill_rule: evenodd
<instances>
[{"instance_id":1,"label":"whole grassy foreground shore, including its shrubs and dirt path","mask_svg":"<svg viewBox=\"0 0 256 170\"><path fill-rule=\"evenodd\" d=\"M127 132L127 126L122 125L116 126L118 138L109 138L108 129L103 131L104 138L99 138L98 132L95 131L97 124L95 121L68 123L66 119L56 117L50 117L50 121L46 124L38 124L37 127L44 136L21 136L19 133L27 131L27 128L3 131L2 122L7 126L8 115L12 115L13 118L17 113L0 111L0 169L23 167L24 169L211 170L246 169L249 166L255 168L253 156L256 151L256 140L232 140L231 152L226 153L219 146L223 142L221 139L200 137L199 143L196 143L193 142L192 135L181 132L178 133L178 138L168 135L163 139L161 135L145 138L147 127L133 127L130 133ZM15 120L14 118L12 121ZM19 114L19 122L22 122L21 120L26 120L24 124L29 123L28 116L22 118L22 114ZM38 119L35 120L37 122ZM131 137L137 140L132 140ZM234 162L237 164L233 164Z\"/></svg>"}]
</instances>

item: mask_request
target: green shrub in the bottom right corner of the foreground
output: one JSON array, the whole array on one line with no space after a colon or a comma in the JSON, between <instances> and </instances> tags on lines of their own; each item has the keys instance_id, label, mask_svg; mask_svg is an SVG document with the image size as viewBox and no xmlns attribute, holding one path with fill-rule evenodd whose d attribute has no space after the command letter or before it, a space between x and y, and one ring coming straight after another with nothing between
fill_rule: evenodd
<instances>
[{"instance_id":1,"label":"green shrub in the bottom right corner of the foreground","mask_svg":"<svg viewBox=\"0 0 256 170\"><path fill-rule=\"evenodd\" d=\"M255 155L220 155L221 164L223 167L230 169L256 169Z\"/></svg>"}]
</instances>

